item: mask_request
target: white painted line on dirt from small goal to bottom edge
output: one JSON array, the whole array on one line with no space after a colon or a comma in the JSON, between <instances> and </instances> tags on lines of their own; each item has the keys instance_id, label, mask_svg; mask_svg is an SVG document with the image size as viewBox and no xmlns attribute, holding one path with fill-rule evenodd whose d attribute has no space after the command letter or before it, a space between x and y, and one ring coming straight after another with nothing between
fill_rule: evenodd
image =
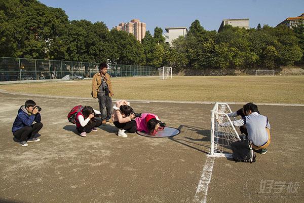
<instances>
[{"instance_id":1,"label":"white painted line on dirt from small goal to bottom edge","mask_svg":"<svg viewBox=\"0 0 304 203\"><path fill-rule=\"evenodd\" d=\"M213 164L214 164L214 157L207 156L207 160L203 168L203 173L198 185L198 189L195 193L193 202L196 203L207 202L208 186L212 177Z\"/></svg>"}]
</instances>

